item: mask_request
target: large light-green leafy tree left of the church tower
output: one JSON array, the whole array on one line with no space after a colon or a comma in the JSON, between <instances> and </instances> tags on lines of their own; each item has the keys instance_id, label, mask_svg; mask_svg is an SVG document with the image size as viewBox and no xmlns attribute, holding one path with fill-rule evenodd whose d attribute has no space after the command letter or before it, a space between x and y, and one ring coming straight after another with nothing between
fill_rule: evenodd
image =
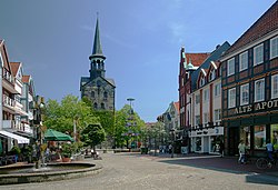
<instances>
[{"instance_id":1,"label":"large light-green leafy tree left of the church tower","mask_svg":"<svg viewBox=\"0 0 278 190\"><path fill-rule=\"evenodd\" d=\"M48 128L61 132L73 132L73 122L77 123L77 132L81 131L88 123L97 123L99 119L93 116L90 107L78 97L66 96L61 103L57 100L48 100L46 103L44 124Z\"/></svg>"}]
</instances>

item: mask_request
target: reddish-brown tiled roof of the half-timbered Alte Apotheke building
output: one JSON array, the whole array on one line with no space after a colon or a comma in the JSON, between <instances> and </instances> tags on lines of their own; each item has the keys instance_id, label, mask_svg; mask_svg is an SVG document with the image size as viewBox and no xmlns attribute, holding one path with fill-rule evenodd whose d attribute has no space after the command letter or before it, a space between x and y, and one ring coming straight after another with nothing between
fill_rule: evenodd
<instances>
[{"instance_id":1,"label":"reddish-brown tiled roof of the half-timbered Alte Apotheke building","mask_svg":"<svg viewBox=\"0 0 278 190\"><path fill-rule=\"evenodd\" d=\"M225 53L251 43L252 41L266 36L278 29L278 1L276 1Z\"/></svg>"}]
</instances>

